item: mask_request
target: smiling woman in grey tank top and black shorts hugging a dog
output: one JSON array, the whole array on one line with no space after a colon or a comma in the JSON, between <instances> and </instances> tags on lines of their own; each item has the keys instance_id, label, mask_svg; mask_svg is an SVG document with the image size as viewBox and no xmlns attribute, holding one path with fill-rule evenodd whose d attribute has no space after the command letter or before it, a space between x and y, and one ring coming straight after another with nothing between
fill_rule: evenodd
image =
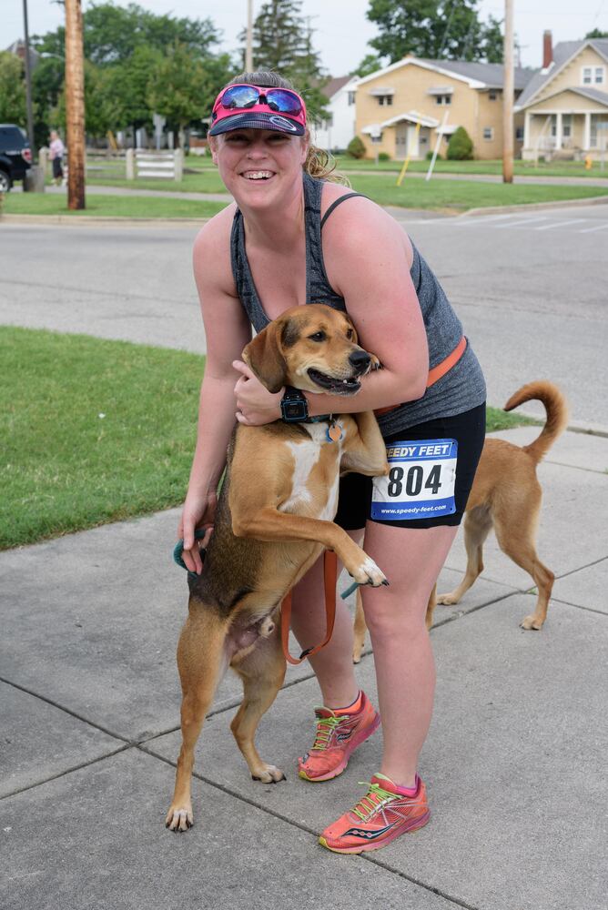
<instances>
[{"instance_id":1,"label":"smiling woman in grey tank top and black shorts hugging a dog","mask_svg":"<svg viewBox=\"0 0 608 910\"><path fill-rule=\"evenodd\" d=\"M306 105L293 86L271 73L237 76L213 106L209 147L235 204L202 228L194 249L208 369L179 526L187 568L202 571L194 531L213 526L235 417L246 428L299 421L304 439L310 426L332 423L331 415L375 410L392 448L402 440L419 440L433 451L435 440L453 443L449 464L404 462L391 466L390 482L379 477L372 483L358 473L340 482L336 523L358 540L365 531L370 561L381 563L390 579L390 588L372 581L361 589L384 728L380 773L353 813L320 838L330 850L360 853L429 818L417 774L434 687L425 615L481 453L485 385L459 319L407 234L370 199L328 179L328 158L310 146ZM271 320L278 320L276 329L290 308L316 303L347 313L363 356L373 352L373 360L351 362L329 376L315 361L315 346L326 343L317 326L306 340L308 372L297 374L298 389L279 388L284 379L276 388L264 384L243 359L251 326L259 338ZM288 342L281 339L286 351ZM377 360L383 369L370 370ZM237 445L243 432L238 427ZM326 442L335 444L329 433ZM377 501L387 497L380 514ZM293 631L304 651L322 638L324 623L317 562L292 594ZM324 707L315 742L298 761L304 780L338 776L379 726L379 714L355 682L351 654L350 613L339 604L331 641L310 656ZM174 817L181 819L182 810L191 819L189 802L177 806Z\"/></svg>"}]
</instances>

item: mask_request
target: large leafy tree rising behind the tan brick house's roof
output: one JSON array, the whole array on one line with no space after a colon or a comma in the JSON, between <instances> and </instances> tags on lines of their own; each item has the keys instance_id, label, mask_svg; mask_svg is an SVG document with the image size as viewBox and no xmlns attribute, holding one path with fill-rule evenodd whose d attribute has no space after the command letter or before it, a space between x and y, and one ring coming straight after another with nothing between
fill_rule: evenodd
<instances>
[{"instance_id":1,"label":"large leafy tree rising behind the tan brick house's roof","mask_svg":"<svg viewBox=\"0 0 608 910\"><path fill-rule=\"evenodd\" d=\"M370 45L390 63L407 55L472 61L489 60L488 54L497 62L500 24L491 17L484 25L477 4L478 0L370 0L367 17L380 30Z\"/></svg>"}]
</instances>

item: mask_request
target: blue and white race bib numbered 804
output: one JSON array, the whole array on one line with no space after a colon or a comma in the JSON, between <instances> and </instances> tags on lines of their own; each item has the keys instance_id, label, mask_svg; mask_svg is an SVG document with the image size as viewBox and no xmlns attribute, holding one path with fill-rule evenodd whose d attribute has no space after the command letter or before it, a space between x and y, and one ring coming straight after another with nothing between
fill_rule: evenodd
<instances>
[{"instance_id":1,"label":"blue and white race bib numbered 804","mask_svg":"<svg viewBox=\"0 0 608 910\"><path fill-rule=\"evenodd\" d=\"M456 440L404 440L386 447L388 477L375 477L371 517L377 521L440 518L456 511Z\"/></svg>"}]
</instances>

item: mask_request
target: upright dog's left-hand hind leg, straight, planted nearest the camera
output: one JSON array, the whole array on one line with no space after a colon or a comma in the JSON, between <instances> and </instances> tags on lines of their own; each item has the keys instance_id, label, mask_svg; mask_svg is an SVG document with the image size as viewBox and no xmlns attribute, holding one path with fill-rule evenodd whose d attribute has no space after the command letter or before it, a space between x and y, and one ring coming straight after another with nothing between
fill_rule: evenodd
<instances>
[{"instance_id":1,"label":"upright dog's left-hand hind leg, straight, planted nearest the camera","mask_svg":"<svg viewBox=\"0 0 608 910\"><path fill-rule=\"evenodd\" d=\"M165 820L170 831L187 831L194 824L190 794L194 748L218 682L226 669L227 628L227 622L213 612L191 606L177 645L177 666L183 693L182 746L177 759L173 802Z\"/></svg>"}]
</instances>

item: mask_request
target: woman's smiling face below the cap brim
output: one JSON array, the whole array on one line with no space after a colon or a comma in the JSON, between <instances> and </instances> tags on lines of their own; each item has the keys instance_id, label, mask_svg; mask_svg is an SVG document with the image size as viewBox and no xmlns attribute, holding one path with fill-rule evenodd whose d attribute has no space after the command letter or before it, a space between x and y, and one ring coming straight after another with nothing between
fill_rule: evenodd
<instances>
[{"instance_id":1,"label":"woman's smiling face below the cap brim","mask_svg":"<svg viewBox=\"0 0 608 910\"><path fill-rule=\"evenodd\" d=\"M235 129L209 137L219 175L239 205L269 207L300 190L307 136L270 129Z\"/></svg>"}]
</instances>

